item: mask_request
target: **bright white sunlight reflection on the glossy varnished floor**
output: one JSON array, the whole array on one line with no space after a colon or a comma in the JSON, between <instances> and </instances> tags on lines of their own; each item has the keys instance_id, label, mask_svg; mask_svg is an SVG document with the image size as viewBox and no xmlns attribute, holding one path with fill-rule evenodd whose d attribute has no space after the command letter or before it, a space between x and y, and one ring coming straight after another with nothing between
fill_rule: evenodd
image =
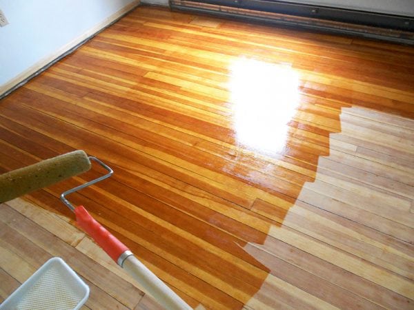
<instances>
[{"instance_id":1,"label":"bright white sunlight reflection on the glossy varnished floor","mask_svg":"<svg viewBox=\"0 0 414 310\"><path fill-rule=\"evenodd\" d=\"M230 99L239 144L280 152L299 105L299 74L290 65L239 58L230 65Z\"/></svg>"}]
</instances>

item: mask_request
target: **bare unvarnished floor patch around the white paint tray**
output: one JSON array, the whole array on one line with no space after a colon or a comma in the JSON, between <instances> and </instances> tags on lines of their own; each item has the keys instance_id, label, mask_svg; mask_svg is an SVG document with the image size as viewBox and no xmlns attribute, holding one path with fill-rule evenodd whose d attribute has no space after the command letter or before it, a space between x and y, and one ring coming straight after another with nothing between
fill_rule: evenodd
<instances>
[{"instance_id":1,"label":"bare unvarnished floor patch around the white paint tray","mask_svg":"<svg viewBox=\"0 0 414 310\"><path fill-rule=\"evenodd\" d=\"M0 302L47 260L60 257L90 289L81 309L161 309L69 218L21 198L1 204L0 213Z\"/></svg>"}]
</instances>

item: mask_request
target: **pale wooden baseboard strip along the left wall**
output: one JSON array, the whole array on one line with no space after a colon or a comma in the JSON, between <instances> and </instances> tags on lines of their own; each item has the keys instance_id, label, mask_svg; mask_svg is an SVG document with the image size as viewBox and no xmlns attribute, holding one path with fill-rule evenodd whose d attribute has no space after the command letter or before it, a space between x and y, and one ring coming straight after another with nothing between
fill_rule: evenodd
<instances>
[{"instance_id":1,"label":"pale wooden baseboard strip along the left wall","mask_svg":"<svg viewBox=\"0 0 414 310\"><path fill-rule=\"evenodd\" d=\"M70 54L70 52L73 52L79 48L79 46L81 46L83 43L86 43L86 41L88 41L90 38L94 37L103 29L107 28L109 25L115 23L115 21L123 17L125 14L135 9L137 6L139 6L139 3L140 0L132 1L130 4L128 4L128 6L121 8L121 10L115 12L110 17L96 25L94 28L91 28L87 32L83 33L80 37L77 37L75 40L70 41L68 44L64 45L62 48L46 56L40 61L37 61L37 63L34 63L34 65L32 65L30 68L21 72L21 74L8 81L8 83L1 85L0 99L10 94L10 92L17 89L21 85L24 85L26 82L32 79L32 77L37 76L37 74L43 72L49 68L50 65L56 63L67 54Z\"/></svg>"}]
</instances>

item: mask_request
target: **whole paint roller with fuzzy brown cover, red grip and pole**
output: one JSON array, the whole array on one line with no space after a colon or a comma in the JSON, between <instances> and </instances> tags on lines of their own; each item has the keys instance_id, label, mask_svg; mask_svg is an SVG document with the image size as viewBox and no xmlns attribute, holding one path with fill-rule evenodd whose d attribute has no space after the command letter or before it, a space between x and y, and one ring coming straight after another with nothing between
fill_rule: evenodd
<instances>
[{"instance_id":1,"label":"whole paint roller with fuzzy brown cover, red grip and pole","mask_svg":"<svg viewBox=\"0 0 414 310\"><path fill-rule=\"evenodd\" d=\"M75 212L77 225L89 234L117 264L126 269L143 287L166 309L192 309L184 300L152 273L132 254L130 249L100 225L85 207L74 207L66 198L68 194L104 180L113 174L108 165L82 150L46 159L40 163L23 167L0 175L0 203L28 194L36 189L47 187L66 178L77 176L91 167L91 161L101 165L107 174L79 185L61 194L63 203Z\"/></svg>"}]
</instances>

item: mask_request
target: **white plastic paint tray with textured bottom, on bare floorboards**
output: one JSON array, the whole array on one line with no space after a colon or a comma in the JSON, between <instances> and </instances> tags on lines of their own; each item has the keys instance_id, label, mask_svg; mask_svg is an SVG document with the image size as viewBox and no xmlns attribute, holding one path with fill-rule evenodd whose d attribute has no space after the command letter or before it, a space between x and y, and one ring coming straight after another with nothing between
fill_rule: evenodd
<instances>
[{"instance_id":1,"label":"white plastic paint tray with textured bottom, on bare floorboards","mask_svg":"<svg viewBox=\"0 0 414 310\"><path fill-rule=\"evenodd\" d=\"M89 287L61 258L50 258L1 305L6 309L79 309Z\"/></svg>"}]
</instances>

